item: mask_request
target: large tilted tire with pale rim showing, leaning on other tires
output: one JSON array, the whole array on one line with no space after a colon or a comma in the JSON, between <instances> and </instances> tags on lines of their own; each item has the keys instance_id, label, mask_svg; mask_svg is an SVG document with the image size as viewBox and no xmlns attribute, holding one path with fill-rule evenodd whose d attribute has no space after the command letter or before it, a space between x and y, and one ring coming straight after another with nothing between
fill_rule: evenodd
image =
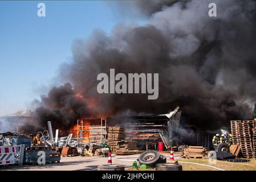
<instances>
[{"instance_id":1,"label":"large tilted tire with pale rim showing, leaning on other tires","mask_svg":"<svg viewBox=\"0 0 256 182\"><path fill-rule=\"evenodd\" d=\"M139 156L139 163L140 165L145 164L149 167L155 167L159 159L160 159L159 152L154 150L149 150L149 151L143 152Z\"/></svg>"}]
</instances>

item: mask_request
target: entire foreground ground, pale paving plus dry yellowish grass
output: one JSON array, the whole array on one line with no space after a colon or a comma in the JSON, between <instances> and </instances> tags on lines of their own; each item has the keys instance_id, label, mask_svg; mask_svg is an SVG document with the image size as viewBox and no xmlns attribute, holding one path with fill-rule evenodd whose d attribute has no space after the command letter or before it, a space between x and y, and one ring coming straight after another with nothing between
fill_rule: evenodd
<instances>
[{"instance_id":1,"label":"entire foreground ground, pale paving plus dry yellowish grass","mask_svg":"<svg viewBox=\"0 0 256 182\"><path fill-rule=\"evenodd\" d=\"M169 154L166 155L167 159L169 158ZM180 154L174 153L175 160L182 165L184 171L256 171L256 159L251 159L249 163L231 163L226 161L217 160L216 164L209 164L209 159L181 159L179 157ZM125 170L141 170L139 167L137 169L132 169L132 162L138 158L137 155L113 155L112 163L124 165ZM9 166L2 170L15 170L15 171L96 171L97 166L107 164L108 158L100 158L97 156L92 157L82 157L82 156L74 156L74 157L62 157L60 163L55 164L47 164L44 166L29 166L24 165L22 167L18 166ZM192 164L193 163L193 164ZM194 164L196 163L196 164ZM205 164L208 166L202 166L200 164ZM144 169L144 170L155 170L153 169Z\"/></svg>"}]
</instances>

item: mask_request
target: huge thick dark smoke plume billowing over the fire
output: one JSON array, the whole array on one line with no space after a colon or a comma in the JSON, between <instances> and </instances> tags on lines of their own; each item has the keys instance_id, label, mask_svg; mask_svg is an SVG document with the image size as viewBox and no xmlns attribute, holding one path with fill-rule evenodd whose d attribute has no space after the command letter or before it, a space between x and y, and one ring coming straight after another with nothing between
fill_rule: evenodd
<instances>
[{"instance_id":1,"label":"huge thick dark smoke plume billowing over the fire","mask_svg":"<svg viewBox=\"0 0 256 182\"><path fill-rule=\"evenodd\" d=\"M217 5L217 17L208 5ZM129 1L120 9L148 17L147 24L119 23L105 34L95 30L76 40L63 80L35 110L46 121L68 129L78 118L104 117L126 111L164 114L181 106L186 122L204 129L251 118L256 100L255 1ZM127 12L127 11L126 11ZM159 73L159 98L146 94L99 94L99 73ZM71 86L72 85L72 86Z\"/></svg>"}]
</instances>

